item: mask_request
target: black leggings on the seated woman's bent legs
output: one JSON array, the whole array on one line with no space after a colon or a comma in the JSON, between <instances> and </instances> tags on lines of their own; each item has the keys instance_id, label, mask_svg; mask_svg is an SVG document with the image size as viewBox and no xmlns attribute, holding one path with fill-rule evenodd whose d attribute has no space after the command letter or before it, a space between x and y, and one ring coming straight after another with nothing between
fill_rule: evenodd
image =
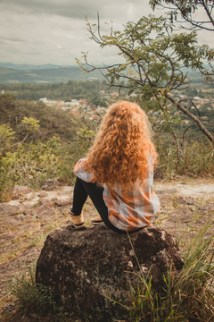
<instances>
[{"instance_id":1,"label":"black leggings on the seated woman's bent legs","mask_svg":"<svg viewBox=\"0 0 214 322\"><path fill-rule=\"evenodd\" d=\"M119 230L111 224L108 218L108 208L103 200L103 190L103 186L98 185L96 182L85 182L77 177L73 191L73 206L71 208L72 213L76 216L79 216L86 202L87 196L89 196L94 203L96 210L102 217L105 225L107 225L114 232L127 233Z\"/></svg>"}]
</instances>

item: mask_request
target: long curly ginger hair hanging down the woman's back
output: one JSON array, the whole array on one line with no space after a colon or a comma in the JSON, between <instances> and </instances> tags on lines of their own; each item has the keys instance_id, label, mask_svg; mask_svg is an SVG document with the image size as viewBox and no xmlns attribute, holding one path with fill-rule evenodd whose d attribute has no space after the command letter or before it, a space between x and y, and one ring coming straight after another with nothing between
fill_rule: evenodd
<instances>
[{"instance_id":1,"label":"long curly ginger hair hanging down the woman's back","mask_svg":"<svg viewBox=\"0 0 214 322\"><path fill-rule=\"evenodd\" d=\"M150 155L156 162L147 115L136 103L119 101L105 114L84 166L100 184L133 189L144 182Z\"/></svg>"}]
</instances>

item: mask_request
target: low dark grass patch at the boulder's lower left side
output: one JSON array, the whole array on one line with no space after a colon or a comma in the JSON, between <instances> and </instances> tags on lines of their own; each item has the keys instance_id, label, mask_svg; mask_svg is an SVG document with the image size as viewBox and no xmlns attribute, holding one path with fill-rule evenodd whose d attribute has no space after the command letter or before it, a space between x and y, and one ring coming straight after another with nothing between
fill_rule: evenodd
<instances>
[{"instance_id":1,"label":"low dark grass patch at the boulder's lower left side","mask_svg":"<svg viewBox=\"0 0 214 322\"><path fill-rule=\"evenodd\" d=\"M21 317L37 313L39 318L42 317L45 321L51 322L99 321L103 317L99 308L93 309L92 316L86 316L82 312L83 319L81 320L73 317L72 314L66 312L63 303L53 295L48 287L36 283L35 273L34 264L25 274L14 277L10 284L8 296L12 297L13 301L17 301L16 309ZM3 318L6 321L10 318L10 314L5 311Z\"/></svg>"}]
</instances>

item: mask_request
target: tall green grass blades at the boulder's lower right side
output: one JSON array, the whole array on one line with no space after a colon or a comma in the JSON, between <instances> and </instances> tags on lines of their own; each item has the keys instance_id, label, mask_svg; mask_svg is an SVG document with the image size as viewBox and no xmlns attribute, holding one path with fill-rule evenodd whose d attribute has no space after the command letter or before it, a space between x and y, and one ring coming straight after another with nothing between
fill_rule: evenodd
<instances>
[{"instance_id":1,"label":"tall green grass blades at the boulder's lower right side","mask_svg":"<svg viewBox=\"0 0 214 322\"><path fill-rule=\"evenodd\" d=\"M185 248L183 269L176 276L170 270L163 276L164 296L152 292L151 278L140 275L143 287L132 293L127 321L213 321L214 236L204 238L212 224L204 226Z\"/></svg>"}]
</instances>

